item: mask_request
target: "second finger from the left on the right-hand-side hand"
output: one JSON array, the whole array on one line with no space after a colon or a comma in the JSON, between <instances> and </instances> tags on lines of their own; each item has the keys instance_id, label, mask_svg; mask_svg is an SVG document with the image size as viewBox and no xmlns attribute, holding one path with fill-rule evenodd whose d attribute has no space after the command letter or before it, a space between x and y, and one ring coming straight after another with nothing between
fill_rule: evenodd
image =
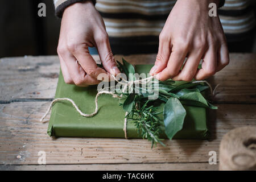
<instances>
[{"instance_id":1,"label":"second finger from the left on the right-hand-side hand","mask_svg":"<svg viewBox=\"0 0 256 182\"><path fill-rule=\"evenodd\" d=\"M175 77L179 73L186 55L187 47L178 46L177 49L173 49L167 67L164 68L162 72L158 73L159 80L164 81Z\"/></svg>"}]
</instances>

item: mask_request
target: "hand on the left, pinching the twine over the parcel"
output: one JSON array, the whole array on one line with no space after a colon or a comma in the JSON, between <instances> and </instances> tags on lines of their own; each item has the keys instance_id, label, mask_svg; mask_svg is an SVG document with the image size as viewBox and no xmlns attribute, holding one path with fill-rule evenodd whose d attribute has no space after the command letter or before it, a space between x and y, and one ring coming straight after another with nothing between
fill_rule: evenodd
<instances>
[{"instance_id":1,"label":"hand on the left, pinching the twine over the parcel","mask_svg":"<svg viewBox=\"0 0 256 182\"><path fill-rule=\"evenodd\" d=\"M99 68L88 47L96 47L105 69ZM57 47L64 81L77 86L95 85L97 77L120 73L110 48L101 15L91 1L75 3L64 10ZM76 61L77 60L77 61Z\"/></svg>"}]
</instances>

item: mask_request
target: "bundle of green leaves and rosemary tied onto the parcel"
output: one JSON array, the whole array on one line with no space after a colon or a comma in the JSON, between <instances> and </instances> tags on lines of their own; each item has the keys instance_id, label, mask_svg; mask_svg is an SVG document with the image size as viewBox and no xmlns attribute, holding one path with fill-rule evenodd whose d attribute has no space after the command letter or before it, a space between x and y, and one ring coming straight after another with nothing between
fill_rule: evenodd
<instances>
[{"instance_id":1,"label":"bundle of green leaves and rosemary tied onto the parcel","mask_svg":"<svg viewBox=\"0 0 256 182\"><path fill-rule=\"evenodd\" d=\"M135 73L133 65L122 59L123 64L119 63L118 67L121 72L129 77L129 73ZM129 78L135 80L135 78ZM142 91L141 87L133 85L133 89ZM183 105L192 105L197 107L208 107L217 109L216 106L205 100L201 94L209 86L200 82L176 82L173 80L159 81L158 86L153 85L152 88L158 89L159 97L157 100L148 100L148 92L146 93L122 93L126 96L125 101L120 105L123 106L128 114L125 116L128 121L134 123L138 134L143 139L148 139L152 143L152 147L156 143L164 146L160 139L160 134L165 133L169 139L183 128L186 110ZM147 87L144 88L147 91ZM159 103L164 103L164 110L157 111ZM159 114L163 114L164 119L159 118Z\"/></svg>"}]
</instances>

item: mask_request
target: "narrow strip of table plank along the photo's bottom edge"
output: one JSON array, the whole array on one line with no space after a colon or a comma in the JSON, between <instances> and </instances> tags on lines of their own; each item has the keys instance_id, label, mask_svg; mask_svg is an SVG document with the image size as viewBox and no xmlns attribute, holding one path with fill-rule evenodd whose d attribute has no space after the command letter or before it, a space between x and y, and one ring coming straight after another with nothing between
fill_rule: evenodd
<instances>
[{"instance_id":1,"label":"narrow strip of table plank along the photo's bottom edge","mask_svg":"<svg viewBox=\"0 0 256 182\"><path fill-rule=\"evenodd\" d=\"M67 165L2 165L1 171L175 171L218 170L218 164L209 163L156 163L156 164L67 164Z\"/></svg>"}]
</instances>

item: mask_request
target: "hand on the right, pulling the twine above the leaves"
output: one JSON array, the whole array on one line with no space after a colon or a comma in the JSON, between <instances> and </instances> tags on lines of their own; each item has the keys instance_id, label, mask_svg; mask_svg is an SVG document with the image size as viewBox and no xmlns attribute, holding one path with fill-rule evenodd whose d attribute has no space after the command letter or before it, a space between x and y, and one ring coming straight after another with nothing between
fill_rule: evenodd
<instances>
[{"instance_id":1,"label":"hand on the right, pulling the twine above the leaves","mask_svg":"<svg viewBox=\"0 0 256 182\"><path fill-rule=\"evenodd\" d=\"M159 80L204 80L229 64L229 52L218 16L208 15L209 3L218 0L178 0L159 36L151 75ZM185 57L188 57L184 64ZM203 59L202 68L197 69Z\"/></svg>"}]
</instances>

